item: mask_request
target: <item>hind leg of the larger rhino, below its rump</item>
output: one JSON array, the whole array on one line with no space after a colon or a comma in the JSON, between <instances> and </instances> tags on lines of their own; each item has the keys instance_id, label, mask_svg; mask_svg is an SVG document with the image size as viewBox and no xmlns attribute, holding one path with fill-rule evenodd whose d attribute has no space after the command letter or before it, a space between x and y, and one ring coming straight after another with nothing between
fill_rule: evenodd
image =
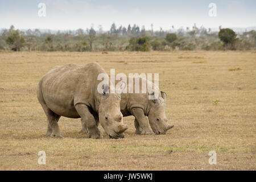
<instances>
[{"instance_id":1,"label":"hind leg of the larger rhino, below its rump","mask_svg":"<svg viewBox=\"0 0 256 182\"><path fill-rule=\"evenodd\" d=\"M51 111L47 106L44 106L43 109L44 109L44 113L46 113L47 121L48 121L46 136L62 137L62 135L60 134L60 128L58 125L60 115L53 113L53 111Z\"/></svg>"}]
</instances>

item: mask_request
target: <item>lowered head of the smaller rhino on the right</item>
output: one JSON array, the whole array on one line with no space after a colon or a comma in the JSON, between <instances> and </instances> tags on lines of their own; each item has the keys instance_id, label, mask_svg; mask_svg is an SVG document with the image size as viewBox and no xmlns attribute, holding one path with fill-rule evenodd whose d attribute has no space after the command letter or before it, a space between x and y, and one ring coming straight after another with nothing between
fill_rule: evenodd
<instances>
[{"instance_id":1,"label":"lowered head of the smaller rhino on the right","mask_svg":"<svg viewBox=\"0 0 256 182\"><path fill-rule=\"evenodd\" d=\"M148 122L151 129L155 134L166 134L167 130L170 130L174 125L168 124L166 118L166 97L165 92L160 92L162 97L158 97L155 100L149 100L150 110L148 112ZM153 93L154 94L154 93Z\"/></svg>"}]
</instances>

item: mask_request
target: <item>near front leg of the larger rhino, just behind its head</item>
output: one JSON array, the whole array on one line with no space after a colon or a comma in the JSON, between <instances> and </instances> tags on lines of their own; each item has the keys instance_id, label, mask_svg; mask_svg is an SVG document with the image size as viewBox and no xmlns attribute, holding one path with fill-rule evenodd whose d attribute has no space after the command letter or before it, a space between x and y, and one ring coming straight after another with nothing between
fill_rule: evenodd
<instances>
[{"instance_id":1,"label":"near front leg of the larger rhino, just behind its head","mask_svg":"<svg viewBox=\"0 0 256 182\"><path fill-rule=\"evenodd\" d=\"M101 131L98 129L96 121L90 113L88 106L85 104L77 104L75 107L77 113L79 113L81 117L82 127L84 127L84 129L88 129L89 138L101 138Z\"/></svg>"}]
</instances>

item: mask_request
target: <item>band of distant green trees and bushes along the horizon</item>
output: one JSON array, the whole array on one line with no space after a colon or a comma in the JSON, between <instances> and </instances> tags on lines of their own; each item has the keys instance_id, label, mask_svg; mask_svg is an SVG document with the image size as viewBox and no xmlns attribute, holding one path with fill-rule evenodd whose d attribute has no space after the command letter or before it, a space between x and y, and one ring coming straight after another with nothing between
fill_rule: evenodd
<instances>
[{"instance_id":1,"label":"band of distant green trees and bushes along the horizon","mask_svg":"<svg viewBox=\"0 0 256 182\"><path fill-rule=\"evenodd\" d=\"M93 27L86 31L39 29L20 31L11 26L0 32L0 50L13 51L172 51L172 50L255 50L256 31L236 34L230 28L211 31L196 24L189 28L164 31L146 30L136 24L123 27L113 23L109 31Z\"/></svg>"}]
</instances>

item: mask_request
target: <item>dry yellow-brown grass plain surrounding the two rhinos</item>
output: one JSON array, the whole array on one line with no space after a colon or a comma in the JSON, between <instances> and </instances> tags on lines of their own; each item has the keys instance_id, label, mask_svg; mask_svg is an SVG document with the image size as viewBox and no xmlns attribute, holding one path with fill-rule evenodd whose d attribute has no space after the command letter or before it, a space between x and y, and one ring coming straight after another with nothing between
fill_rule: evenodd
<instances>
[{"instance_id":1,"label":"dry yellow-brown grass plain surrounding the two rhinos","mask_svg":"<svg viewBox=\"0 0 256 182\"><path fill-rule=\"evenodd\" d=\"M199 57L207 60L203 67L192 62ZM0 52L0 169L255 170L255 58L255 52L232 51ZM94 140L78 133L79 119L62 117L64 138L44 137L46 116L36 99L40 77L55 65L92 61L108 73L159 73L174 129L134 135L133 117L126 117L124 139ZM42 150L46 165L38 165ZM208 164L211 150L217 165Z\"/></svg>"}]
</instances>

